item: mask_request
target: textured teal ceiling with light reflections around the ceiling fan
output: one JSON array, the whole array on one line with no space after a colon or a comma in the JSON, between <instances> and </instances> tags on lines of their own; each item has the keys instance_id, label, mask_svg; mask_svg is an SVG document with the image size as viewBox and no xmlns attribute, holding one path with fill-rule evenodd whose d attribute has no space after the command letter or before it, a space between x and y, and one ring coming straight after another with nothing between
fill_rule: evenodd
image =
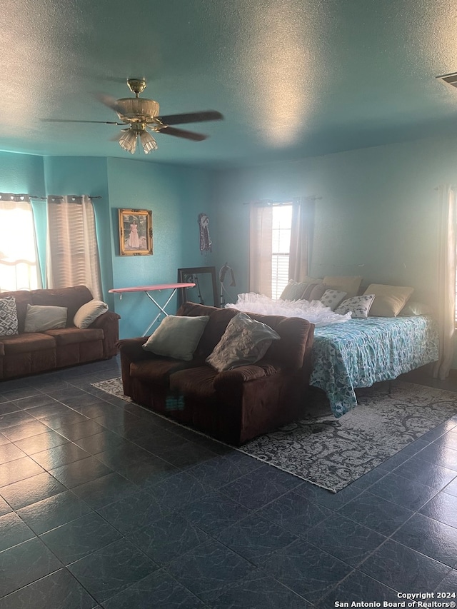
<instances>
[{"instance_id":1,"label":"textured teal ceiling with light reflections around the ceiling fan","mask_svg":"<svg viewBox=\"0 0 457 609\"><path fill-rule=\"evenodd\" d=\"M157 135L144 161L231 166L457 132L451 0L2 0L0 150L132 158L97 94L144 96L161 114L214 109Z\"/></svg>"}]
</instances>

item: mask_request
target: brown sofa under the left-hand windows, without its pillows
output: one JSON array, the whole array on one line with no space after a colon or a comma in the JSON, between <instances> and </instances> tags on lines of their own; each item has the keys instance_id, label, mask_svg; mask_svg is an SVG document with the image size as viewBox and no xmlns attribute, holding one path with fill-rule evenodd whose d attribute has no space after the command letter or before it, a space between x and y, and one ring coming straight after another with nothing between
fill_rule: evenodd
<instances>
[{"instance_id":1,"label":"brown sofa under the left-hand windows, without its pillows","mask_svg":"<svg viewBox=\"0 0 457 609\"><path fill-rule=\"evenodd\" d=\"M116 355L117 313L103 313L84 330L73 324L76 311L93 298L86 286L0 293L0 298L6 296L16 299L19 333L0 336L0 381ZM67 307L66 328L24 332L27 304Z\"/></svg>"}]
</instances>

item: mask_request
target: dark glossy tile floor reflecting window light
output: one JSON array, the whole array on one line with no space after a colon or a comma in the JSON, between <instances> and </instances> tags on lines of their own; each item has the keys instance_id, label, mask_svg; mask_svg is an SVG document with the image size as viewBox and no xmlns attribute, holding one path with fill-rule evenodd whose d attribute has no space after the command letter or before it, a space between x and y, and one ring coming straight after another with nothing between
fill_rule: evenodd
<instances>
[{"instance_id":1,"label":"dark glossy tile floor reflecting window light","mask_svg":"<svg viewBox=\"0 0 457 609\"><path fill-rule=\"evenodd\" d=\"M114 376L0 383L0 609L456 593L457 416L332 495L91 386Z\"/></svg>"}]
</instances>

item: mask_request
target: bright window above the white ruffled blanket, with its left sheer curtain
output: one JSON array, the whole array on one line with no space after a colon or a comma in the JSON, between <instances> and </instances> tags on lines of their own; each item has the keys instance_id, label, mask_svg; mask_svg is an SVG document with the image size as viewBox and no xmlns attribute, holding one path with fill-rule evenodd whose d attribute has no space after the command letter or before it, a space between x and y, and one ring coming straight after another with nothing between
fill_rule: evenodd
<instances>
[{"instance_id":1,"label":"bright window above the white ruffled blanket, with its left sheer curtain","mask_svg":"<svg viewBox=\"0 0 457 609\"><path fill-rule=\"evenodd\" d=\"M288 282L292 203L253 203L250 233L250 291L279 298Z\"/></svg>"}]
</instances>

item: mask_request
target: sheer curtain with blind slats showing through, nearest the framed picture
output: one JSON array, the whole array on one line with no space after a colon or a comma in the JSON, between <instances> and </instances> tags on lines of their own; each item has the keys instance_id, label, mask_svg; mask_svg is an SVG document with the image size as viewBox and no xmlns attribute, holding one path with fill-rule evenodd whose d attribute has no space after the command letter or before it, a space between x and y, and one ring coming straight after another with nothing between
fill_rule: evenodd
<instances>
[{"instance_id":1,"label":"sheer curtain with blind slats showing through, nearest the framed picture","mask_svg":"<svg viewBox=\"0 0 457 609\"><path fill-rule=\"evenodd\" d=\"M89 196L49 196L46 274L49 288L87 286L102 299L94 206Z\"/></svg>"}]
</instances>

